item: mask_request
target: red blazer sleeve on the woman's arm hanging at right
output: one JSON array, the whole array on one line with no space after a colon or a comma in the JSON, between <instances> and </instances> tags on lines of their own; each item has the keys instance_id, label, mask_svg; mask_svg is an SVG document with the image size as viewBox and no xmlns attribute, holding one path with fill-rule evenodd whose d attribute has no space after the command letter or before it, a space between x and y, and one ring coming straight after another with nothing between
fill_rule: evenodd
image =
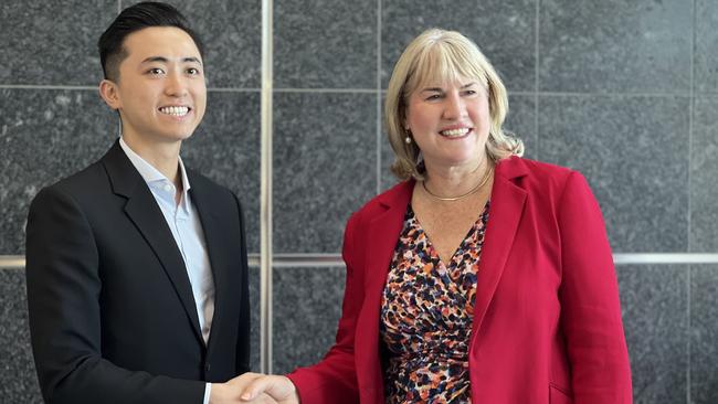
<instances>
[{"instance_id":1,"label":"red blazer sleeve on the woman's arm hanging at right","mask_svg":"<svg viewBox=\"0 0 718 404\"><path fill-rule=\"evenodd\" d=\"M578 172L559 205L561 330L576 404L632 402L631 369L619 288L601 210Z\"/></svg>"}]
</instances>

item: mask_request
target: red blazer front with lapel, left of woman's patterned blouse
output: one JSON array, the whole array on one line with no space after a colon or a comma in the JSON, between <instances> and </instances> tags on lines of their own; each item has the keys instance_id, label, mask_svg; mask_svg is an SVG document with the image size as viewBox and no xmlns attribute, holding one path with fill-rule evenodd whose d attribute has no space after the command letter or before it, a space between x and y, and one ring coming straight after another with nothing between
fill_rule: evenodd
<instances>
[{"instance_id":1,"label":"red blazer front with lapel, left of woman's patterned blouse","mask_svg":"<svg viewBox=\"0 0 718 404\"><path fill-rule=\"evenodd\" d=\"M379 362L381 293L387 283L389 266L403 226L413 184L413 181L403 182L398 185L395 192L380 196L380 203L386 211L374 216L367 227L365 299L357 320L355 364L359 390L371 397L370 402L380 402L383 396Z\"/></svg>"}]
</instances>

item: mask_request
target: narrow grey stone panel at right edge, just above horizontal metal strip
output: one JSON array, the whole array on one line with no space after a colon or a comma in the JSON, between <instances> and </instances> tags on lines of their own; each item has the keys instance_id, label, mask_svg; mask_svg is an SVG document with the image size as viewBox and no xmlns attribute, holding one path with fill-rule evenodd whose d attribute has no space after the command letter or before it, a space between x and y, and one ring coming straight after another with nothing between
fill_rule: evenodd
<instances>
[{"instance_id":1,"label":"narrow grey stone panel at right edge, just above horizontal metal strip","mask_svg":"<svg viewBox=\"0 0 718 404\"><path fill-rule=\"evenodd\" d=\"M690 152L690 251L718 253L718 97L697 97Z\"/></svg>"}]
</instances>

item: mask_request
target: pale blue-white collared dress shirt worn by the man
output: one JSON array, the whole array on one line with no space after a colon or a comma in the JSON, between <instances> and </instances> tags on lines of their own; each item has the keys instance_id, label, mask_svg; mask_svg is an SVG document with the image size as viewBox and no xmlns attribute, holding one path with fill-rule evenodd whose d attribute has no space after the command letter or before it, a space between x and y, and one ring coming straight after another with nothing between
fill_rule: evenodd
<instances>
[{"instance_id":1,"label":"pale blue-white collared dress shirt worn by the man","mask_svg":"<svg viewBox=\"0 0 718 404\"><path fill-rule=\"evenodd\" d=\"M210 257L207 254L202 223L200 222L197 209L192 205L189 198L190 182L187 178L182 159L179 159L182 194L178 204L175 199L175 194L177 193L175 183L133 151L122 137L119 138L119 146L139 174L142 176L145 182L147 182L147 187L152 192L152 196L155 196L155 201L157 201L157 204L162 211L162 215L165 215L167 225L172 232L177 247L182 254L187 275L192 286L194 304L197 305L197 315L200 320L202 339L204 339L204 343L207 344L210 338L212 316L214 313L214 279L212 277ZM207 383L207 387L204 389L204 404L209 403L211 387L211 383Z\"/></svg>"}]
</instances>

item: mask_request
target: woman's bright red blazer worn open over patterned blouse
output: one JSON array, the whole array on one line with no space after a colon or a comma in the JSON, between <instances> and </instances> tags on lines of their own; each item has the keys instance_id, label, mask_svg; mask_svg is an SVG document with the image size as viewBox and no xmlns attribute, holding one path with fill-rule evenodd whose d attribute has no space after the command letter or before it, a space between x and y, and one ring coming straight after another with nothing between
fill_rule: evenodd
<instances>
[{"instance_id":1,"label":"woman's bright red blazer worn open over patterned blouse","mask_svg":"<svg viewBox=\"0 0 718 404\"><path fill-rule=\"evenodd\" d=\"M303 403L384 403L379 311L414 182L356 212L336 344L289 379ZM472 402L632 402L611 248L584 178L513 157L496 166L469 343Z\"/></svg>"}]
</instances>

